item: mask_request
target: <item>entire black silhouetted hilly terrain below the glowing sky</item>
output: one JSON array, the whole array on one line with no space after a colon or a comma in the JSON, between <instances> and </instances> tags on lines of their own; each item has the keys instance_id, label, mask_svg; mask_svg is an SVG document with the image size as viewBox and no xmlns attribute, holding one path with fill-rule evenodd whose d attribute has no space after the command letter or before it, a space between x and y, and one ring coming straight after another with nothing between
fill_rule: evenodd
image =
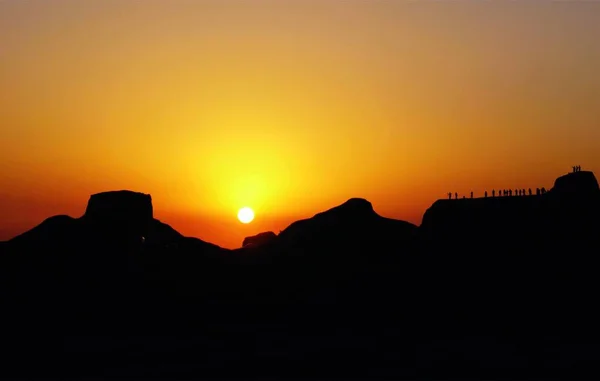
<instances>
[{"instance_id":1,"label":"entire black silhouetted hilly terrain below the glowing sky","mask_svg":"<svg viewBox=\"0 0 600 381\"><path fill-rule=\"evenodd\" d=\"M577 172L420 227L351 199L225 250L94 195L0 244L0 376L599 378L599 217Z\"/></svg>"}]
</instances>

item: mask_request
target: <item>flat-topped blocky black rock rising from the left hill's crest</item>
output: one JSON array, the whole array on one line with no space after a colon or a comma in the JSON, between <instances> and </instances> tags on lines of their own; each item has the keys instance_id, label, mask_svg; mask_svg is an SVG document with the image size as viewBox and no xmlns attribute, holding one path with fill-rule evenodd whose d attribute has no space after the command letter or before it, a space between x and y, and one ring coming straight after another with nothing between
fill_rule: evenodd
<instances>
[{"instance_id":1,"label":"flat-topped blocky black rock rising from the left hill's crest","mask_svg":"<svg viewBox=\"0 0 600 381\"><path fill-rule=\"evenodd\" d=\"M146 236L153 220L152 197L127 190L90 196L82 219L117 235Z\"/></svg>"}]
</instances>

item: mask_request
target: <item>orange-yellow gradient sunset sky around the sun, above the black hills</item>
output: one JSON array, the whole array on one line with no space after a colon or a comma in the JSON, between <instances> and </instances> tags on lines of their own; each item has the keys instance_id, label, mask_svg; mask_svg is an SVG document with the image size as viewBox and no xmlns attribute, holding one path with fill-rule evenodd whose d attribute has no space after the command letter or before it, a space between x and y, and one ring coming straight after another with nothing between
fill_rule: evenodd
<instances>
[{"instance_id":1,"label":"orange-yellow gradient sunset sky around the sun, above the black hills","mask_svg":"<svg viewBox=\"0 0 600 381\"><path fill-rule=\"evenodd\" d=\"M600 170L598 36L593 1L0 1L0 239L115 189L238 247L550 188Z\"/></svg>"}]
</instances>

